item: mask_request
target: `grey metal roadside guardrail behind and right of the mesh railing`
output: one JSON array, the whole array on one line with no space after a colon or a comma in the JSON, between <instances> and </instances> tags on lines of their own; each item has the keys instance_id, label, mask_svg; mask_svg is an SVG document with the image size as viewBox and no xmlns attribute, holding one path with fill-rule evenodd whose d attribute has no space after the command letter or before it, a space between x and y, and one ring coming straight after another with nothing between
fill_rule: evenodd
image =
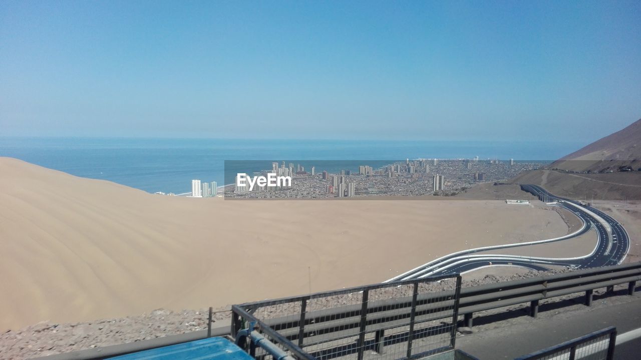
<instances>
[{"instance_id":1,"label":"grey metal roadside guardrail behind and right of the mesh railing","mask_svg":"<svg viewBox=\"0 0 641 360\"><path fill-rule=\"evenodd\" d=\"M562 274L545 275L528 279L497 282L469 288L462 288L458 304L458 315L464 316L464 324L472 327L472 316L478 311L497 309L499 307L524 304L529 302L529 315L536 317L540 300L551 299L572 293L585 292L585 304L592 304L593 292L598 288L612 291L615 285L628 284L628 294L632 295L637 281L641 281L641 262L624 265L604 266L576 270ZM389 282L399 284L401 282ZM437 300L443 297L453 297L454 291L441 291L436 294L420 294L416 299L416 314L421 316L438 307ZM303 299L303 298L292 298ZM287 301L281 299L277 301ZM395 316L408 318L411 313L412 297L396 297L388 299L370 307L378 309L368 315L370 322L376 322L379 327L385 327L385 322L392 319L386 318L385 311L395 309L397 312L404 309L404 313ZM313 319L313 331L317 334L326 334L340 329L357 327L360 321L360 306L344 306L335 309L325 309L317 313L307 313L306 318ZM331 318L332 322L325 321ZM297 333L292 331L298 327L297 319L272 318L265 321L272 329L283 334L287 340L296 340ZM310 331L312 330L310 329Z\"/></svg>"}]
</instances>

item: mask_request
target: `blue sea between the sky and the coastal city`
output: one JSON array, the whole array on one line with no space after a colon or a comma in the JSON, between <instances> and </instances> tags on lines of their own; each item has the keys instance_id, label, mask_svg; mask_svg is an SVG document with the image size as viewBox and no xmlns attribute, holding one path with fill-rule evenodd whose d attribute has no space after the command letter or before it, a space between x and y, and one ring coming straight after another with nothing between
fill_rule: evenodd
<instances>
[{"instance_id":1,"label":"blue sea between the sky and the coastal city","mask_svg":"<svg viewBox=\"0 0 641 360\"><path fill-rule=\"evenodd\" d=\"M358 165L379 168L418 158L549 162L576 151L577 142L445 140L238 140L204 138L0 137L0 156L18 158L81 177L103 179L146 192L187 193L192 179L234 181L236 172L258 172L272 161L337 172ZM227 167L228 171L225 171ZM231 169L231 170L230 170Z\"/></svg>"}]
</instances>

